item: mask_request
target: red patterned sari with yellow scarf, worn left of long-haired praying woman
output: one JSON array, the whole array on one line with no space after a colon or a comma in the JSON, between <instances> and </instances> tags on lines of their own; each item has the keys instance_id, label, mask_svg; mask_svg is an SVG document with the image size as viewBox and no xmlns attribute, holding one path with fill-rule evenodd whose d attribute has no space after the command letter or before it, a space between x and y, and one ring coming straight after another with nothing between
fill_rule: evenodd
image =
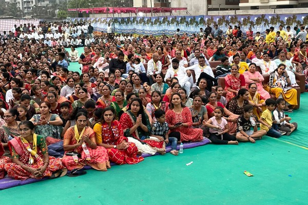
<instances>
[{"instance_id":1,"label":"red patterned sari with yellow scarf, worn left of long-haired praying woman","mask_svg":"<svg viewBox=\"0 0 308 205\"><path fill-rule=\"evenodd\" d=\"M98 144L120 145L123 140L128 142L127 137L124 137L121 124L117 120L113 120L111 127L105 122L103 124L96 124L93 128ZM129 142L128 148L125 150L118 150L117 148L108 148L108 156L110 161L123 165L128 163L133 165L143 161L143 157L137 157L138 148L133 142Z\"/></svg>"}]
</instances>

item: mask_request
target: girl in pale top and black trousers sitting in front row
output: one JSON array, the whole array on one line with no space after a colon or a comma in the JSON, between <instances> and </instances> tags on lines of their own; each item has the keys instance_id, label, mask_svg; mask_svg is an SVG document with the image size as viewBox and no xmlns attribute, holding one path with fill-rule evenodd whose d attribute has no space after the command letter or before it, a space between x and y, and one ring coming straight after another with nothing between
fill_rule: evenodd
<instances>
[{"instance_id":1,"label":"girl in pale top and black trousers sitting in front row","mask_svg":"<svg viewBox=\"0 0 308 205\"><path fill-rule=\"evenodd\" d=\"M228 133L228 122L222 117L223 108L216 107L214 113L215 116L205 122L205 126L209 128L209 139L211 142L217 145L238 145L239 142L236 140L236 137Z\"/></svg>"}]
</instances>

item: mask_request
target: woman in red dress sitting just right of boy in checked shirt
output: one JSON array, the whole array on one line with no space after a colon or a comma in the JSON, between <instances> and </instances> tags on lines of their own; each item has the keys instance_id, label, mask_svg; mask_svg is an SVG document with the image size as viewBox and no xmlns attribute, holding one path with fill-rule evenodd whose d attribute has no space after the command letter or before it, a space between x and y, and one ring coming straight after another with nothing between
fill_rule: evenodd
<instances>
[{"instance_id":1,"label":"woman in red dress sitting just right of boy in checked shirt","mask_svg":"<svg viewBox=\"0 0 308 205\"><path fill-rule=\"evenodd\" d=\"M179 93L171 95L170 105L171 108L166 113L166 122L170 128L169 136L180 133L182 142L201 141L203 139L203 131L199 128L192 128L190 110L182 104Z\"/></svg>"}]
</instances>

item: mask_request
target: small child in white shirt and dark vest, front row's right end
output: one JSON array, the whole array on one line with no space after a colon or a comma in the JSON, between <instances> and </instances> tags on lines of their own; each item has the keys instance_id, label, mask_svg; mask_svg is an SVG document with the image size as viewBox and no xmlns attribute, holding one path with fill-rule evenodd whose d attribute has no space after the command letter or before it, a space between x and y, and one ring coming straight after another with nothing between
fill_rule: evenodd
<instances>
[{"instance_id":1,"label":"small child in white shirt and dark vest, front row's right end","mask_svg":"<svg viewBox=\"0 0 308 205\"><path fill-rule=\"evenodd\" d=\"M276 100L276 110L274 110L273 115L274 119L276 120L275 128L277 128L280 131L286 132L285 135L290 135L291 132L297 129L297 123L289 121L291 120L291 117L286 117L283 109L285 106L285 100L283 98L278 98Z\"/></svg>"}]
</instances>

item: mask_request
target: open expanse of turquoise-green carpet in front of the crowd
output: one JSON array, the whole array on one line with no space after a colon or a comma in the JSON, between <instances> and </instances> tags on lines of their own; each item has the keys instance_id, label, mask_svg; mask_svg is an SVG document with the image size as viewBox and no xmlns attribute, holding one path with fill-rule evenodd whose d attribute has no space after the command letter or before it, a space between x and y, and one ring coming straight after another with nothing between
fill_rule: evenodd
<instances>
[{"instance_id":1,"label":"open expanse of turquoise-green carpet in front of the crowd","mask_svg":"<svg viewBox=\"0 0 308 205\"><path fill-rule=\"evenodd\" d=\"M6 189L0 204L306 204L306 153L270 137L256 144L206 145Z\"/></svg>"}]
</instances>

